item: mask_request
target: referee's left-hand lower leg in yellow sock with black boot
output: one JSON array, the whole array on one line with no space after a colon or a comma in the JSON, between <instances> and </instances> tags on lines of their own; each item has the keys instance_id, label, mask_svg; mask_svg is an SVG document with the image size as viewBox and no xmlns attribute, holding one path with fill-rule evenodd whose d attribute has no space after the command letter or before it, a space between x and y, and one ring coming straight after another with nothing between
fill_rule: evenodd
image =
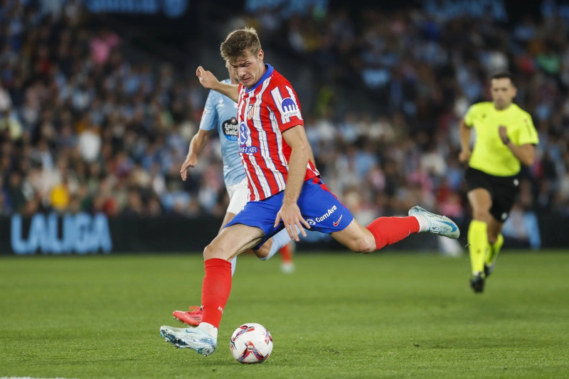
<instances>
[{"instance_id":1,"label":"referee's left-hand lower leg in yellow sock with black boot","mask_svg":"<svg viewBox=\"0 0 569 379\"><path fill-rule=\"evenodd\" d=\"M477 294L484 292L484 262L488 249L488 225L484 221L472 220L468 227L468 251L472 266L470 287Z\"/></svg>"}]
</instances>

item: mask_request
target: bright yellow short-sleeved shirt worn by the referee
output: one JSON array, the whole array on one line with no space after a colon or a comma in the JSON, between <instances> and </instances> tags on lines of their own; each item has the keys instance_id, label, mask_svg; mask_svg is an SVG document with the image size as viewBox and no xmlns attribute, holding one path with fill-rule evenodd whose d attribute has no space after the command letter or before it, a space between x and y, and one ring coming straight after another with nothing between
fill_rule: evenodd
<instances>
[{"instance_id":1,"label":"bright yellow short-sleeved shirt worn by the referee","mask_svg":"<svg viewBox=\"0 0 569 379\"><path fill-rule=\"evenodd\" d=\"M464 123L476 130L476 142L468 164L486 174L513 176L521 168L520 161L500 139L500 125L506 127L512 143L519 146L538 144L538 132L531 116L515 104L505 110L496 110L493 102L479 102L469 107Z\"/></svg>"}]
</instances>

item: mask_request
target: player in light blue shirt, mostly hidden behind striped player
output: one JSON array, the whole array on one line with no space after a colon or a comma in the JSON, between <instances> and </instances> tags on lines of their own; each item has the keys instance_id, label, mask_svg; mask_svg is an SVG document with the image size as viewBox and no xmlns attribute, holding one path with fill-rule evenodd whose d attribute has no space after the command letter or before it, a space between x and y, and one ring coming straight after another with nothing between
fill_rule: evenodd
<instances>
[{"instance_id":1,"label":"player in light blue shirt, mostly hidden behind striped player","mask_svg":"<svg viewBox=\"0 0 569 379\"><path fill-rule=\"evenodd\" d=\"M238 84L235 70L227 63L229 79L223 80L225 83ZM229 205L227 213L223 218L220 230L227 224L249 201L249 191L247 186L247 176L245 169L241 163L239 156L238 123L237 123L237 103L219 92L211 90L206 100L206 106L201 116L200 128L195 136L191 139L190 148L186 161L182 164L180 175L183 181L186 181L188 169L196 166L198 156L206 146L208 139L214 129L218 129L219 141L221 144L221 156L223 159L223 180L225 188L229 194ZM275 255L277 251L282 255L282 271L294 271L292 262L292 242L287 230L267 240L259 250L253 250L255 255L261 260L268 260ZM237 258L231 260L231 274L235 272L235 263ZM174 311L174 317L180 321L197 326L201 322L201 308L199 306L191 306L190 311Z\"/></svg>"}]
</instances>

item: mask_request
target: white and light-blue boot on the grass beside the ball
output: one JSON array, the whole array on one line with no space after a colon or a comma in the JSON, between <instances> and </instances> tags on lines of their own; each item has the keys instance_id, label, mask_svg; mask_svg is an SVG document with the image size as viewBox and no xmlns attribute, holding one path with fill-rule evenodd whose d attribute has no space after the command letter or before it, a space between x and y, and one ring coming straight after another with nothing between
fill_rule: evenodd
<instances>
[{"instance_id":1,"label":"white and light-blue boot on the grass beside the ball","mask_svg":"<svg viewBox=\"0 0 569 379\"><path fill-rule=\"evenodd\" d=\"M216 351L217 341L201 328L174 328L161 326L160 336L176 348L191 348L202 356Z\"/></svg>"}]
</instances>

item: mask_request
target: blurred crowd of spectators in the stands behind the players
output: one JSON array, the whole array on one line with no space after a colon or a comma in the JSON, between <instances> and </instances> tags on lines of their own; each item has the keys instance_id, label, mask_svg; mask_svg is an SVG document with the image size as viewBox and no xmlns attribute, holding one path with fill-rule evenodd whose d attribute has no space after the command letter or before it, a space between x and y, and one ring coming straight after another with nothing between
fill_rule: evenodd
<instances>
[{"instance_id":1,"label":"blurred crowd of spectators in the stands behind the players","mask_svg":"<svg viewBox=\"0 0 569 379\"><path fill-rule=\"evenodd\" d=\"M0 215L225 213L215 140L188 181L179 178L207 92L167 63L133 63L117 31L87 27L80 1L54 4L0 1ZM287 20L260 11L228 22L245 23L262 43L306 57L329 82L356 81L383 104L339 114L334 91L314 83L317 102L304 114L324 181L361 223L415 204L467 217L457 123L489 99L499 70L514 73L516 102L540 137L512 217L569 214L567 23L523 18L506 28L369 9Z\"/></svg>"}]
</instances>

